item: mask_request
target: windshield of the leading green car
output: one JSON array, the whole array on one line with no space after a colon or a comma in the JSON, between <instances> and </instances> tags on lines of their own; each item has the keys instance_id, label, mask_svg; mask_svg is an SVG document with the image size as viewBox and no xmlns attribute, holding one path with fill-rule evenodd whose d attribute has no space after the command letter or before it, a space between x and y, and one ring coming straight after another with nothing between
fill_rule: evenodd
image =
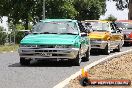
<instances>
[{"instance_id":1,"label":"windshield of the leading green car","mask_svg":"<svg viewBox=\"0 0 132 88\"><path fill-rule=\"evenodd\" d=\"M43 34L78 34L78 28L74 22L39 22L32 33Z\"/></svg>"}]
</instances>

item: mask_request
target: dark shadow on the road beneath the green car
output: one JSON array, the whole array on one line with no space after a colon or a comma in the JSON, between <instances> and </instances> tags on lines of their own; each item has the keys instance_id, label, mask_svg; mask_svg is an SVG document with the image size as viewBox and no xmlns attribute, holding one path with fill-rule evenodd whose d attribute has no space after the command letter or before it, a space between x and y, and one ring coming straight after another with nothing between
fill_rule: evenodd
<instances>
[{"instance_id":1,"label":"dark shadow on the road beneath the green car","mask_svg":"<svg viewBox=\"0 0 132 88\"><path fill-rule=\"evenodd\" d=\"M9 65L8 67L72 67L72 64L68 61L41 61L41 62L33 62L30 65L22 66L20 63L14 63Z\"/></svg>"}]
</instances>

